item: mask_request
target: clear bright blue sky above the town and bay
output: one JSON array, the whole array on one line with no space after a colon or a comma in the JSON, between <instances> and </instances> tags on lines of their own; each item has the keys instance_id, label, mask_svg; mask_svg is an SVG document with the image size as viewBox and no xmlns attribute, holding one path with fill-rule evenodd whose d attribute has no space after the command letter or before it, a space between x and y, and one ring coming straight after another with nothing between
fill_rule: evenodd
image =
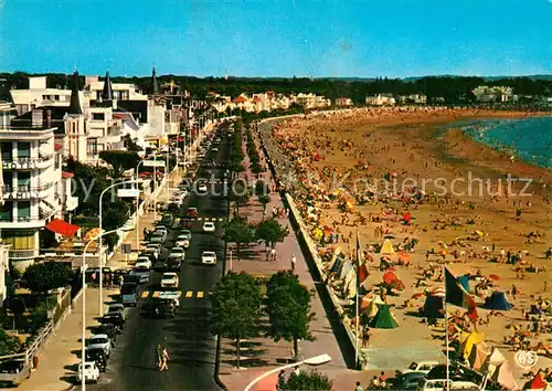
<instances>
[{"instance_id":1,"label":"clear bright blue sky above the town and bay","mask_svg":"<svg viewBox=\"0 0 552 391\"><path fill-rule=\"evenodd\" d=\"M552 0L0 0L0 71L552 73Z\"/></svg>"}]
</instances>

